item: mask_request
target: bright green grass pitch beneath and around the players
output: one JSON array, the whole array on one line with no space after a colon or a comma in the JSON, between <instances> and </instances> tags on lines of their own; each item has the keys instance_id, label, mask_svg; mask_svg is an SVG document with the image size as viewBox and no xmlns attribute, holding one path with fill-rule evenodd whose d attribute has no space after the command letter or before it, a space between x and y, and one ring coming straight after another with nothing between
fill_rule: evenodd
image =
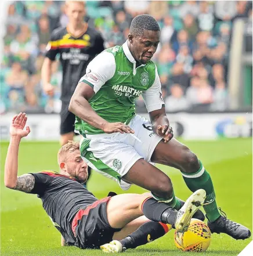
<instances>
[{"instance_id":1,"label":"bright green grass pitch beneath and around the players","mask_svg":"<svg viewBox=\"0 0 253 256\"><path fill-rule=\"evenodd\" d=\"M218 205L229 218L252 230L252 139L227 139L211 142L187 142L209 171L214 182ZM35 195L13 191L3 186L3 167L8 143L1 145L1 255L101 255L99 250L60 247L60 234L53 227ZM20 146L19 174L57 170L56 142L24 142ZM180 172L159 166L174 183L176 196L186 199ZM102 198L107 192L122 193L117 184L93 172L89 189ZM144 190L132 186L129 193ZM129 250L131 255L189 255L174 245L174 232L146 246ZM250 239L236 241L227 235L212 235L207 255L238 255ZM124 254L124 255L125 255ZM192 253L190 253L192 255ZM195 255L195 254L194 254ZM201 254L203 255L203 254Z\"/></svg>"}]
</instances>

